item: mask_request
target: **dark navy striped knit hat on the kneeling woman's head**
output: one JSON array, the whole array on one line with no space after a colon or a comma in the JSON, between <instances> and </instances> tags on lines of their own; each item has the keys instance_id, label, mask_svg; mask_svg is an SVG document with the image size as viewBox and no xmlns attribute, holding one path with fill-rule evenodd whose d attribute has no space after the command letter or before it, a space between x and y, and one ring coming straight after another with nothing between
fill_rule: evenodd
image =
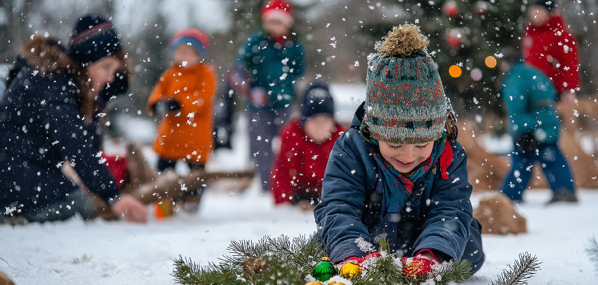
<instances>
[{"instance_id":1,"label":"dark navy striped knit hat on the kneeling woman's head","mask_svg":"<svg viewBox=\"0 0 598 285\"><path fill-rule=\"evenodd\" d=\"M69 56L87 66L120 51L118 35L112 22L91 14L79 18L71 38Z\"/></svg>"}]
</instances>

